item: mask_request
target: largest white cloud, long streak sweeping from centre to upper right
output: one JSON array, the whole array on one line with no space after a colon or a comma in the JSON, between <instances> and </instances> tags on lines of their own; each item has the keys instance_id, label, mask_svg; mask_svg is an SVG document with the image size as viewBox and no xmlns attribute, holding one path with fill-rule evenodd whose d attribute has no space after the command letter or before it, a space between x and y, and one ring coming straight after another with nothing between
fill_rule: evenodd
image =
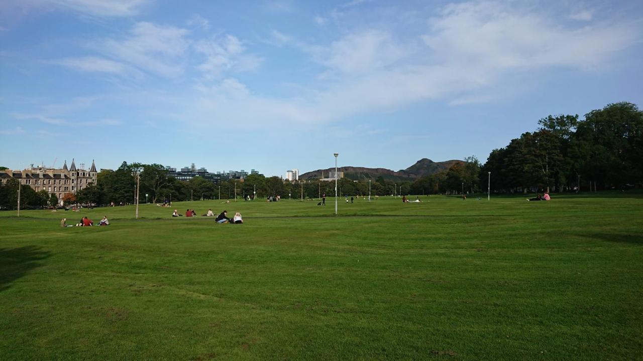
<instances>
[{"instance_id":1,"label":"largest white cloud, long streak sweeping from centre to upper right","mask_svg":"<svg viewBox=\"0 0 643 361\"><path fill-rule=\"evenodd\" d=\"M579 28L513 4L477 1L448 5L428 24L416 37L398 40L383 30L354 31L326 46L301 44L273 31L273 38L298 46L327 67L325 81L278 98L227 79L200 87L194 113L185 118L206 127L238 121L260 128L337 121L426 100L489 102L507 97L494 89L516 86L508 80L511 73L553 67L586 71L640 40L637 28L620 22ZM212 118L201 120L198 114Z\"/></svg>"}]
</instances>

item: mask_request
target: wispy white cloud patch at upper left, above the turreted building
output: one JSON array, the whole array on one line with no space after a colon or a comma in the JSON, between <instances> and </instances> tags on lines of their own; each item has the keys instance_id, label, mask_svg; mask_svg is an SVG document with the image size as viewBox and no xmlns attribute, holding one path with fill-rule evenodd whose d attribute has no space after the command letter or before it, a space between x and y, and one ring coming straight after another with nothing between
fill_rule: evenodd
<instances>
[{"instance_id":1,"label":"wispy white cloud patch at upper left, above the turreted building","mask_svg":"<svg viewBox=\"0 0 643 361\"><path fill-rule=\"evenodd\" d=\"M182 28L138 22L127 39L107 39L94 48L141 71L174 78L185 71L187 35Z\"/></svg>"}]
</instances>

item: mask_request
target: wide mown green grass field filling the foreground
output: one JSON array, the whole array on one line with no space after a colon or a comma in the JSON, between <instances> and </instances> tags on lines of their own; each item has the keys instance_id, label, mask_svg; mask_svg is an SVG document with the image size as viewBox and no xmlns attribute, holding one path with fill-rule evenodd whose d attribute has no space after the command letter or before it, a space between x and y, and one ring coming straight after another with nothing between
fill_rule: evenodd
<instances>
[{"instance_id":1,"label":"wide mown green grass field filling the foreground","mask_svg":"<svg viewBox=\"0 0 643 361\"><path fill-rule=\"evenodd\" d=\"M0 212L0 360L643 360L641 193L421 199Z\"/></svg>"}]
</instances>

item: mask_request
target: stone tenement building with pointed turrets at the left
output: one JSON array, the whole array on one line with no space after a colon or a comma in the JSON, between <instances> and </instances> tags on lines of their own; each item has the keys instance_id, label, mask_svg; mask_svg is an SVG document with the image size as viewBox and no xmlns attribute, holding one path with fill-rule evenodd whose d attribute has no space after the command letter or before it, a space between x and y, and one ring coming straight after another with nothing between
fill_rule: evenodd
<instances>
[{"instance_id":1,"label":"stone tenement building with pointed turrets at the left","mask_svg":"<svg viewBox=\"0 0 643 361\"><path fill-rule=\"evenodd\" d=\"M80 168L84 168L80 164ZM26 184L35 191L45 190L51 195L55 194L62 204L62 196L65 193L76 194L80 189L86 188L89 184L96 184L96 165L91 161L91 168L84 170L76 168L76 163L71 160L71 166L67 168L67 161L62 169L46 169L44 167L32 167L25 170L3 170L0 171L0 181L6 183L9 179L16 179L21 184Z\"/></svg>"}]
</instances>

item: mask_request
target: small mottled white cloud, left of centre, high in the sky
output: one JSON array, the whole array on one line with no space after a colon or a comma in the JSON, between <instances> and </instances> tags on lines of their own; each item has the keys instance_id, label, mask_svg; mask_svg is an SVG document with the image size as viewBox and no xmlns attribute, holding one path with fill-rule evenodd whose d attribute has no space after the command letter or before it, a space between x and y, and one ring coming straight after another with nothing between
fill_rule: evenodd
<instances>
[{"instance_id":1,"label":"small mottled white cloud, left of centre, high in the sky","mask_svg":"<svg viewBox=\"0 0 643 361\"><path fill-rule=\"evenodd\" d=\"M199 40L195 42L194 49L205 57L197 69L206 79L217 78L226 71L251 71L262 62L255 55L247 54L245 46L233 35Z\"/></svg>"}]
</instances>

